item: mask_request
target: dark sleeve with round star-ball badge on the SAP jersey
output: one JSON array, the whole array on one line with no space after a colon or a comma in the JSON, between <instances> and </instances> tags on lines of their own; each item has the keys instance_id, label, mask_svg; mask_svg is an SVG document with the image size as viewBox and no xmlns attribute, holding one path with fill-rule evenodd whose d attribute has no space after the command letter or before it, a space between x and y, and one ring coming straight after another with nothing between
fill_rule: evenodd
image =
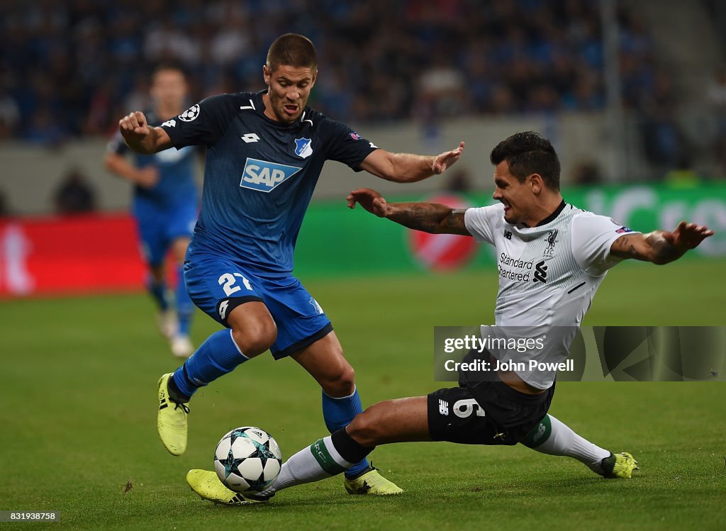
<instances>
[{"instance_id":1,"label":"dark sleeve with round star-ball badge on the SAP jersey","mask_svg":"<svg viewBox=\"0 0 726 531\"><path fill-rule=\"evenodd\" d=\"M188 145L210 146L219 140L236 115L234 95L219 94L192 105L160 127L169 135L176 149Z\"/></svg>"}]
</instances>

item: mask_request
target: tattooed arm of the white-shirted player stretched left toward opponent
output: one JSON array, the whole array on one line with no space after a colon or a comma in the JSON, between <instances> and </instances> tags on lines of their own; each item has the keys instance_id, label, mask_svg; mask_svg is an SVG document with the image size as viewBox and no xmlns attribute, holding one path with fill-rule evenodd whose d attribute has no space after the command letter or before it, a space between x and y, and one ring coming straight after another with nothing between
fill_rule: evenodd
<instances>
[{"instance_id":1,"label":"tattooed arm of the white-shirted player stretched left toward opponent","mask_svg":"<svg viewBox=\"0 0 726 531\"><path fill-rule=\"evenodd\" d=\"M439 203L388 203L383 195L370 188L359 188L348 194L348 208L356 203L378 217L434 234L470 236L464 224L465 208L451 208Z\"/></svg>"}]
</instances>

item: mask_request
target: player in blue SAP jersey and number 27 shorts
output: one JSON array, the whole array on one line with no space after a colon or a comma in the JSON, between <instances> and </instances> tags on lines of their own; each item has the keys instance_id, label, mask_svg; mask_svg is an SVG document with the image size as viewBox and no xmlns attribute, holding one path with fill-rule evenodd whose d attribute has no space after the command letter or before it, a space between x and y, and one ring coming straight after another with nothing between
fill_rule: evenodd
<instances>
[{"instance_id":1,"label":"player in blue SAP jersey and number 27 shorts","mask_svg":"<svg viewBox=\"0 0 726 531\"><path fill-rule=\"evenodd\" d=\"M326 160L393 182L441 174L464 143L437 156L389 153L343 123L306 107L317 78L311 41L287 33L270 46L267 89L209 97L178 117L149 125L143 113L119 122L138 153L206 145L202 208L184 264L192 300L227 330L213 333L174 373L160 378L158 431L166 449L187 447L187 403L197 389L270 349L292 357L322 387L331 432L362 412L354 370L325 312L293 277L293 250ZM344 479L351 494L401 489L366 459Z\"/></svg>"}]
</instances>

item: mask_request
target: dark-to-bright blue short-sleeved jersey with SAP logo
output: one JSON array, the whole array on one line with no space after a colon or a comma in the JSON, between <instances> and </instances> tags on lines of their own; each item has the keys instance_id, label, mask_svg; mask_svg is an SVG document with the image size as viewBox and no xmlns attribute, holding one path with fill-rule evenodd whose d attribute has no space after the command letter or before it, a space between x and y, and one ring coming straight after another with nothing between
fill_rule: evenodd
<instances>
[{"instance_id":1,"label":"dark-to-bright blue short-sleeved jersey with SAP logo","mask_svg":"<svg viewBox=\"0 0 726 531\"><path fill-rule=\"evenodd\" d=\"M260 275L280 277L293 270L295 241L325 161L358 171L377 148L309 107L294 123L271 120L263 94L209 97L161 127L177 149L207 146L189 256L227 256Z\"/></svg>"}]
</instances>

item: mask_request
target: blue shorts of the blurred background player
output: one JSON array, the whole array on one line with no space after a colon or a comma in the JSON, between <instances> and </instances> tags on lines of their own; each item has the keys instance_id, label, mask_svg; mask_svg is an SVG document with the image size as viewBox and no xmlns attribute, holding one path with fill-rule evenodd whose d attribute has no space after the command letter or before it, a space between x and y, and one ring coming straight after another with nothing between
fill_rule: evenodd
<instances>
[{"instance_id":1,"label":"blue shorts of the blurred background player","mask_svg":"<svg viewBox=\"0 0 726 531\"><path fill-rule=\"evenodd\" d=\"M176 238L191 238L197 222L197 204L189 203L171 210L134 206L136 230L147 264L163 264L171 243Z\"/></svg>"}]
</instances>

